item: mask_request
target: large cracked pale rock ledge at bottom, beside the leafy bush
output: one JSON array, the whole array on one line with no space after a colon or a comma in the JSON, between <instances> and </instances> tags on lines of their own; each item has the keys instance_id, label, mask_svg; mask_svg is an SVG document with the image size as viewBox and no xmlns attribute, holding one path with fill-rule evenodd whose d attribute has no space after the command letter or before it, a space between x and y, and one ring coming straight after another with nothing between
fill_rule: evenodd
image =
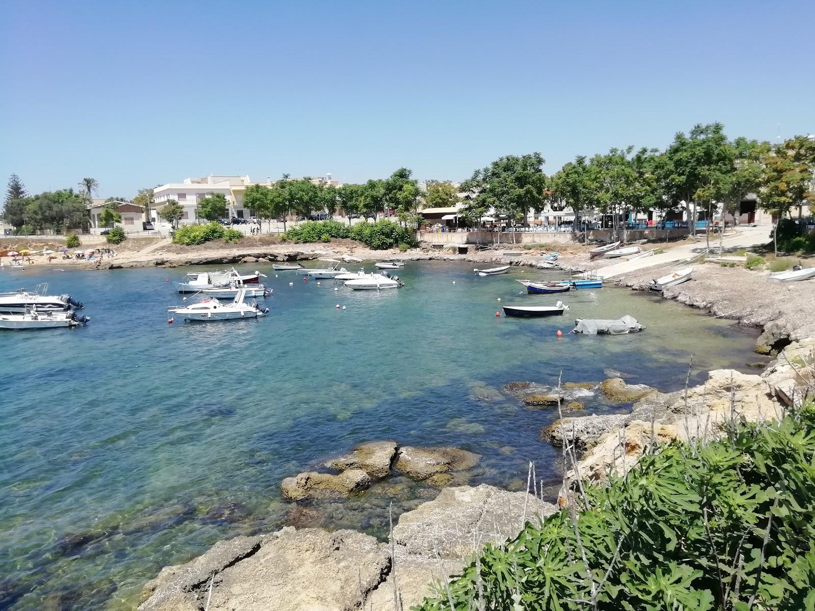
<instances>
[{"instance_id":1,"label":"large cracked pale rock ledge at bottom, beside the leafy bush","mask_svg":"<svg viewBox=\"0 0 815 611\"><path fill-rule=\"evenodd\" d=\"M457 574L475 545L504 543L524 521L557 511L526 492L482 484L447 488L403 513L389 543L355 530L286 527L216 543L184 565L161 569L139 611L393 611Z\"/></svg>"}]
</instances>

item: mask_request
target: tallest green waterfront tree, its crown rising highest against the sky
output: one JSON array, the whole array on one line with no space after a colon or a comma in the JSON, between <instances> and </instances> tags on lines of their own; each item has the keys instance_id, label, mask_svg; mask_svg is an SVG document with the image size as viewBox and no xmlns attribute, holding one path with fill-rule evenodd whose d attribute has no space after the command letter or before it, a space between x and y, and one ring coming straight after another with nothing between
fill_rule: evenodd
<instances>
[{"instance_id":1,"label":"tallest green waterfront tree, its crown rising highest against the sky","mask_svg":"<svg viewBox=\"0 0 815 611\"><path fill-rule=\"evenodd\" d=\"M721 123L694 125L687 136L678 132L664 153L657 178L672 206L685 202L692 235L696 233L697 216L694 197L709 184L716 167L725 165L729 157L725 126Z\"/></svg>"}]
</instances>

